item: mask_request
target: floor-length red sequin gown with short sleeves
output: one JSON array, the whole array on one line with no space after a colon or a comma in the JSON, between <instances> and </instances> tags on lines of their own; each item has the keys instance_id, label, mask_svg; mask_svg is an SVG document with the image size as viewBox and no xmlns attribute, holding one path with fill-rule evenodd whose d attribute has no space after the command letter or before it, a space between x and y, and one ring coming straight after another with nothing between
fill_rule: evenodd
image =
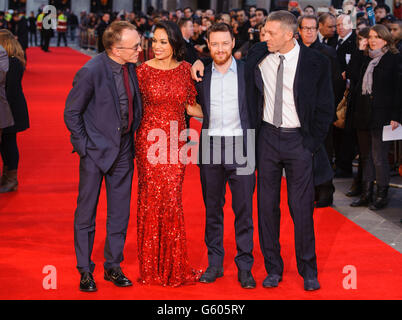
<instances>
[{"instance_id":1,"label":"floor-length red sequin gown with short sleeves","mask_svg":"<svg viewBox=\"0 0 402 320\"><path fill-rule=\"evenodd\" d=\"M199 276L188 262L182 205L185 165L174 156L174 163L170 161L171 130L177 143L186 127L185 106L193 105L197 95L190 68L187 62L172 70L155 69L146 63L137 68L144 108L135 143L139 281L143 284L180 286L194 283ZM152 133L159 138L150 139ZM165 140L166 148L155 151L156 144L160 146ZM178 150L185 143L179 141ZM155 164L156 159L167 162Z\"/></svg>"}]
</instances>

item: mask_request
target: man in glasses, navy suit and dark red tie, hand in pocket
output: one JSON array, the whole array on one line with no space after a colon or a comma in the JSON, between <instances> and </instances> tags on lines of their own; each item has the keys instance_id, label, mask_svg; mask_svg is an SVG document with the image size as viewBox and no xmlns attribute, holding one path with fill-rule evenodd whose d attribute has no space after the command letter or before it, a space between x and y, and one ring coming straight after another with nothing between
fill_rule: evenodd
<instances>
[{"instance_id":1,"label":"man in glasses, navy suit and dark red tie, hand in pocket","mask_svg":"<svg viewBox=\"0 0 402 320\"><path fill-rule=\"evenodd\" d=\"M80 183L74 220L80 290L96 291L91 260L95 217L102 180L107 193L105 280L132 283L120 269L130 215L134 172L134 132L142 118L135 63L141 38L128 22L115 22L103 36L106 52L90 60L75 76L64 119L74 151L80 156Z\"/></svg>"}]
</instances>

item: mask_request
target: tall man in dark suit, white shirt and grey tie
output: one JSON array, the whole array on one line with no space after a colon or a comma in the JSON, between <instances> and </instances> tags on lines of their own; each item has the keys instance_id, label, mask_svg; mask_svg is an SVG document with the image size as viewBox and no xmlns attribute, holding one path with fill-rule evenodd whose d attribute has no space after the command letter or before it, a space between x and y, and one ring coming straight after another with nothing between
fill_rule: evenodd
<instances>
[{"instance_id":1,"label":"tall man in dark suit, white shirt and grey tie","mask_svg":"<svg viewBox=\"0 0 402 320\"><path fill-rule=\"evenodd\" d=\"M314 236L314 185L332 178L324 140L334 116L330 63L294 39L297 21L287 11L271 13L265 40L248 53L247 98L257 138L258 217L268 273L265 288L282 280L280 190L285 169L295 227L296 260L304 289L320 288Z\"/></svg>"}]
</instances>

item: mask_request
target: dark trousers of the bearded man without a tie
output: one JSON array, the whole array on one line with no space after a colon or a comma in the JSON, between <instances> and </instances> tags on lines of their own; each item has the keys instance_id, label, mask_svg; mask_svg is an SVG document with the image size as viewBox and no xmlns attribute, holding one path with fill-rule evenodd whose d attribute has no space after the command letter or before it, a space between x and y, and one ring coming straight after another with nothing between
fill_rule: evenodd
<instances>
[{"instance_id":1,"label":"dark trousers of the bearded man without a tie","mask_svg":"<svg viewBox=\"0 0 402 320\"><path fill-rule=\"evenodd\" d=\"M241 139L242 140L242 139ZM242 142L241 142L242 143ZM223 206L225 204L226 185L232 192L232 209L235 214L235 237L237 255L235 263L239 270L250 271L254 258L253 251L253 194L255 173L239 174L243 167L236 161L225 161L225 150L233 144L221 146L220 164L200 165L202 194L206 208L205 244L208 248L209 266L222 267L225 250L223 248ZM211 154L213 153L211 144ZM233 156L233 159L235 157ZM225 163L232 162L232 163Z\"/></svg>"}]
</instances>

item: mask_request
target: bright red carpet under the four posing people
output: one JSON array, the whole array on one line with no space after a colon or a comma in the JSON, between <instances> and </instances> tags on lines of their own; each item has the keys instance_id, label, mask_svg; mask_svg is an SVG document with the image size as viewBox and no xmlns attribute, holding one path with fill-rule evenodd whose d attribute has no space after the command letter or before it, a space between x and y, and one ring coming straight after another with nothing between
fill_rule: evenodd
<instances>
[{"instance_id":1,"label":"bright red carpet under the four posing people","mask_svg":"<svg viewBox=\"0 0 402 320\"><path fill-rule=\"evenodd\" d=\"M103 280L103 246L106 201L98 208L93 260L99 291L79 292L75 269L73 218L78 191L78 157L71 154L69 134L63 122L64 101L76 71L88 57L70 49L44 54L28 50L24 89L31 129L19 135L21 162L18 192L0 196L0 299L401 299L402 255L333 209L315 212L317 257L321 290L307 293L297 274L293 223L283 198L281 229L285 262L283 282L277 289L263 289L266 274L258 243L255 210L255 265L257 289L243 290L234 264L234 217L228 193L225 215L225 276L211 285L181 288L141 286L116 288ZM195 124L193 124L195 125ZM285 195L285 193L284 193ZM122 264L125 273L138 277L136 250L136 180L132 215ZM196 166L186 172L184 209L192 265L207 266L204 245L204 206ZM45 290L45 266L57 270L57 289ZM357 289L346 290L342 273L352 265Z\"/></svg>"}]
</instances>

